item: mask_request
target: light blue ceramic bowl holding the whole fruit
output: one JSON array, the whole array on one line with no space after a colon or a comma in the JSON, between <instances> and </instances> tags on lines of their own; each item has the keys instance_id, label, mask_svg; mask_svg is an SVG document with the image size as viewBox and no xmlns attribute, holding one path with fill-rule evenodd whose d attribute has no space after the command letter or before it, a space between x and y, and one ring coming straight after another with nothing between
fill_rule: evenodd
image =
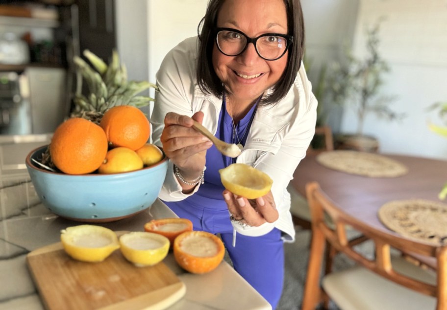
<instances>
[{"instance_id":1,"label":"light blue ceramic bowl holding the whole fruit","mask_svg":"<svg viewBox=\"0 0 447 310\"><path fill-rule=\"evenodd\" d=\"M148 209L166 177L168 158L131 172L70 175L40 168L48 145L31 151L26 168L42 203L56 215L84 222L110 222ZM39 161L39 160L38 160Z\"/></svg>"}]
</instances>

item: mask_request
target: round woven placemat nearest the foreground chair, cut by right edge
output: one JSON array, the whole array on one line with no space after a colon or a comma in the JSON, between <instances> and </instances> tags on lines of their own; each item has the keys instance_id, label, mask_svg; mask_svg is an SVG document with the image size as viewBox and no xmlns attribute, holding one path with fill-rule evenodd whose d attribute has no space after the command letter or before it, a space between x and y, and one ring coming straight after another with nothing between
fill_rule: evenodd
<instances>
[{"instance_id":1,"label":"round woven placemat nearest the foreground chair, cut by right edge","mask_svg":"<svg viewBox=\"0 0 447 310\"><path fill-rule=\"evenodd\" d=\"M395 200L378 212L380 221L398 234L429 243L447 244L447 204L423 200Z\"/></svg>"}]
</instances>

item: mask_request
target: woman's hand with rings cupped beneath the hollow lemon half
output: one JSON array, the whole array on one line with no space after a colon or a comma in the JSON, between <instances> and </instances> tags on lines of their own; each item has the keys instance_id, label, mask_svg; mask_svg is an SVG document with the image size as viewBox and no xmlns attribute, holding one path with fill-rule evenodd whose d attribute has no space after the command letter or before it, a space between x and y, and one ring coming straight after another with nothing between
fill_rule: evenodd
<instances>
[{"instance_id":1,"label":"woman's hand with rings cupped beneath the hollow lemon half","mask_svg":"<svg viewBox=\"0 0 447 310\"><path fill-rule=\"evenodd\" d=\"M273 223L279 217L272 191L256 199L236 196L228 190L224 190L223 195L233 218L249 226L260 226L265 222Z\"/></svg>"}]
</instances>

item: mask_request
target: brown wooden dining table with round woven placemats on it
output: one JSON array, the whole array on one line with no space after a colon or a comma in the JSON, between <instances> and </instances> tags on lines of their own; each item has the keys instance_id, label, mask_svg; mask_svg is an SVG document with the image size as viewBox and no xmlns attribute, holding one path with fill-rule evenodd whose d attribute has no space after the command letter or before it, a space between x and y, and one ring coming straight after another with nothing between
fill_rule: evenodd
<instances>
[{"instance_id":1,"label":"brown wooden dining table with round woven placemats on it","mask_svg":"<svg viewBox=\"0 0 447 310\"><path fill-rule=\"evenodd\" d=\"M368 177L321 165L307 156L294 172L292 186L305 197L308 182L317 181L327 196L344 212L374 228L394 234L378 218L382 205L393 200L440 201L438 194L447 182L447 161L416 156L381 154L408 168L398 177Z\"/></svg>"}]
</instances>

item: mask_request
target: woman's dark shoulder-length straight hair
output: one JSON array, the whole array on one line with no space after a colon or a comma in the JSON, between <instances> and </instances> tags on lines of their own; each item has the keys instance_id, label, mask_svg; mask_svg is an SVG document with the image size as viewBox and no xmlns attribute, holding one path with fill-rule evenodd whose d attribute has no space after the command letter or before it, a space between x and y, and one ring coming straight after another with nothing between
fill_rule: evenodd
<instances>
[{"instance_id":1,"label":"woman's dark shoulder-length straight hair","mask_svg":"<svg viewBox=\"0 0 447 310\"><path fill-rule=\"evenodd\" d=\"M214 29L217 16L224 0L210 0L205 16L199 23L199 55L197 58L197 81L199 88L206 94L223 95L224 86L214 72L212 52L215 44ZM304 21L299 0L284 0L287 11L287 27L289 35L294 37L289 47L287 66L278 82L273 86L273 92L263 96L262 104L274 104L283 98L298 74L304 52Z\"/></svg>"}]
</instances>

